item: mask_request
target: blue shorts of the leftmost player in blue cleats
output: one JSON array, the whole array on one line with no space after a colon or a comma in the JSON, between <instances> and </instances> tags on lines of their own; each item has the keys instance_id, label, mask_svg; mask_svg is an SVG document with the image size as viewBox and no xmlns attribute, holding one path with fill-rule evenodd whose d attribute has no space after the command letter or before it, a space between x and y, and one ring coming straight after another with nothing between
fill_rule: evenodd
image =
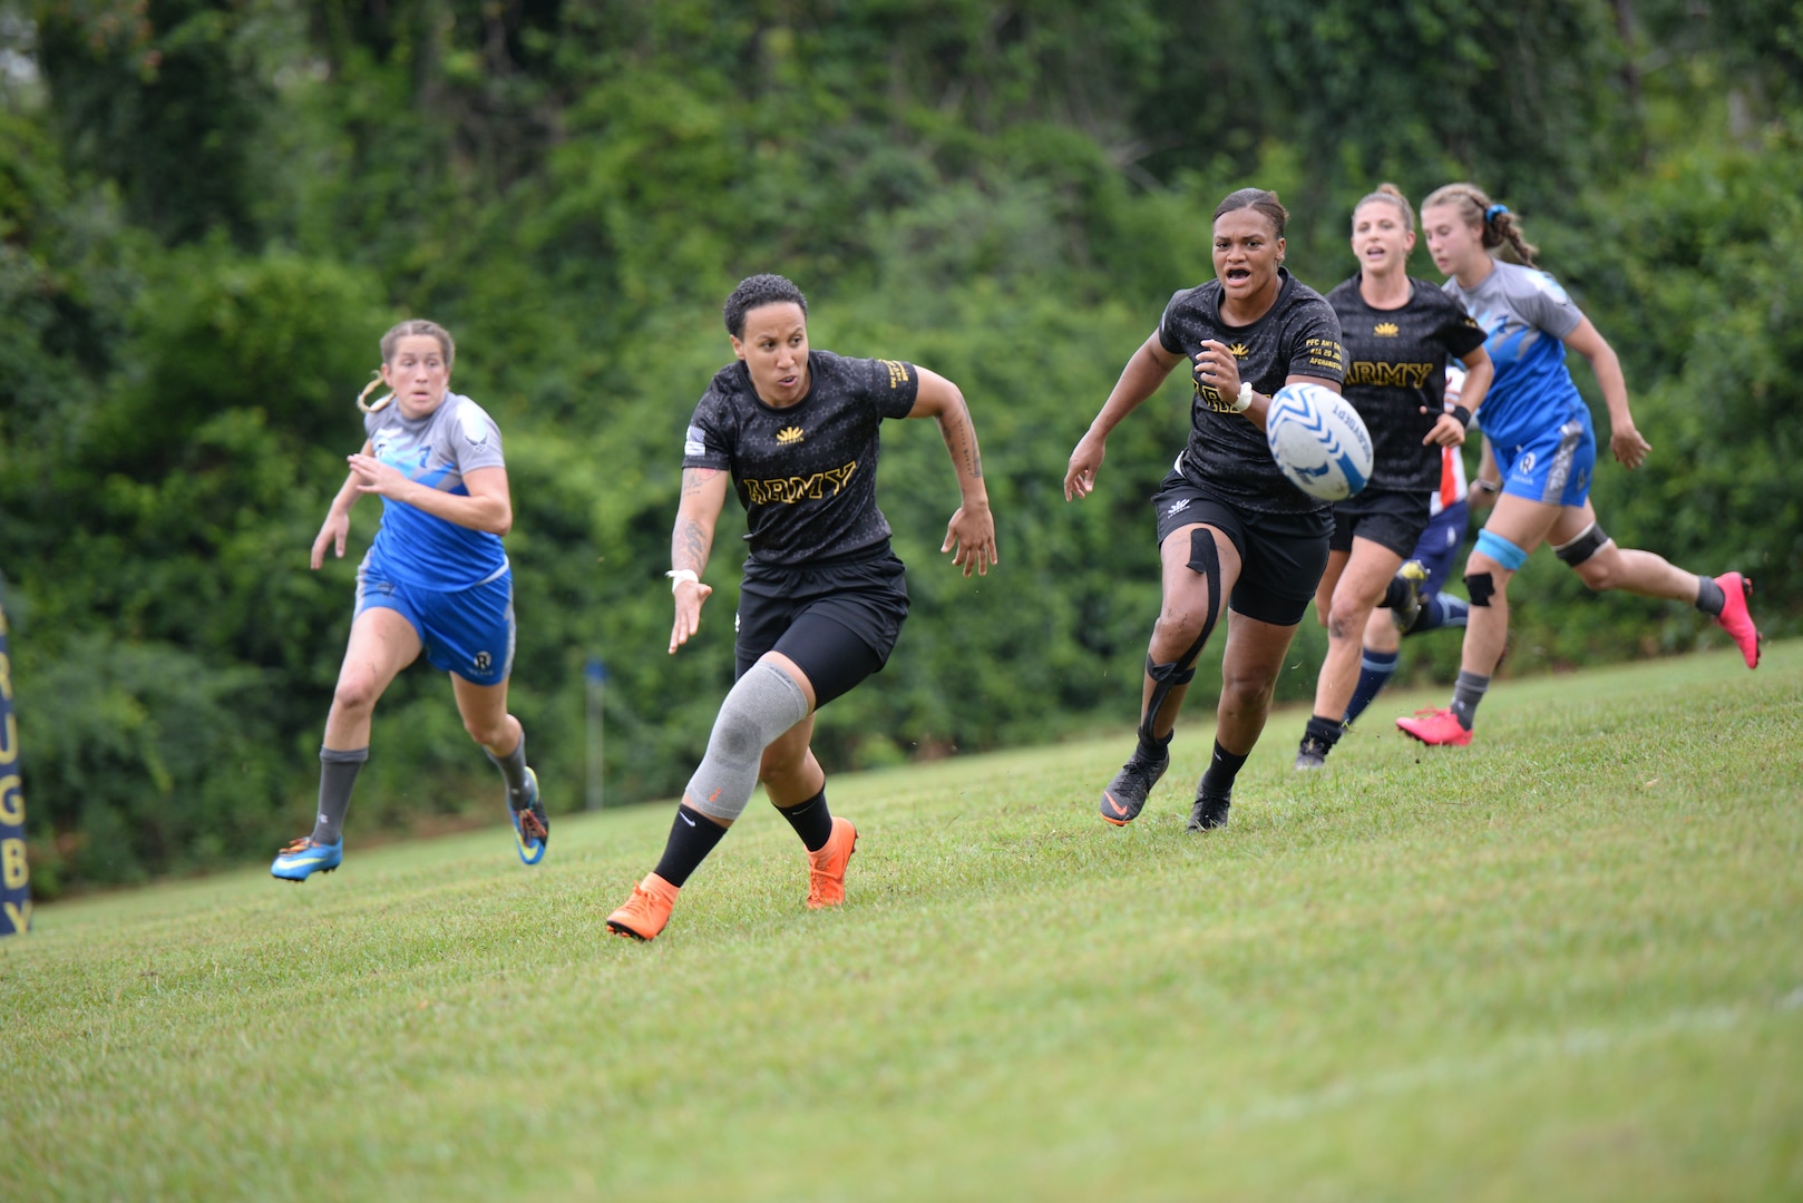
<instances>
[{"instance_id":1,"label":"blue shorts of the leftmost player in blue cleats","mask_svg":"<svg viewBox=\"0 0 1803 1203\"><path fill-rule=\"evenodd\" d=\"M499 685L514 671L514 574L467 590L427 590L357 568L357 613L393 610L413 624L435 669L472 685Z\"/></svg>"}]
</instances>

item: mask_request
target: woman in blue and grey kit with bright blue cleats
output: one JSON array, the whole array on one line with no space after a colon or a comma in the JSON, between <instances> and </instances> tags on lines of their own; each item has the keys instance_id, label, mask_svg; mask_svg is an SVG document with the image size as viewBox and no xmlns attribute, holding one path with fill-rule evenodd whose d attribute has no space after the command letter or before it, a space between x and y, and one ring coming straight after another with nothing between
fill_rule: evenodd
<instances>
[{"instance_id":1,"label":"woman in blue and grey kit with bright blue cleats","mask_svg":"<svg viewBox=\"0 0 1803 1203\"><path fill-rule=\"evenodd\" d=\"M404 321L382 335L380 384L364 411L362 451L332 498L314 539L312 566L326 548L343 559L350 510L368 492L382 498L382 527L357 568L357 615L339 667L325 745L319 748L319 815L312 835L276 857L270 873L305 882L344 859L344 810L357 770L370 759L370 718L400 669L420 653L451 675L463 729L507 781L514 846L537 864L550 840L539 781L526 767L526 734L507 712L514 667L514 577L501 536L514 505L501 431L469 397L449 390L456 344L431 321Z\"/></svg>"}]
</instances>

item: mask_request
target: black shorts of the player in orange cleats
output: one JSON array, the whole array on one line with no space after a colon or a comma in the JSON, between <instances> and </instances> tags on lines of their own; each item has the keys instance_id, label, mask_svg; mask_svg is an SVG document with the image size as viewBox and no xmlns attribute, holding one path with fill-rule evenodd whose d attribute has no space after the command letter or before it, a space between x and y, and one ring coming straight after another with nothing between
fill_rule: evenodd
<instances>
[{"instance_id":1,"label":"black shorts of the player in orange cleats","mask_svg":"<svg viewBox=\"0 0 1803 1203\"><path fill-rule=\"evenodd\" d=\"M766 651L781 651L808 675L820 709L871 673L880 673L907 619L902 561L876 552L811 565L745 561L739 583L737 675Z\"/></svg>"}]
</instances>

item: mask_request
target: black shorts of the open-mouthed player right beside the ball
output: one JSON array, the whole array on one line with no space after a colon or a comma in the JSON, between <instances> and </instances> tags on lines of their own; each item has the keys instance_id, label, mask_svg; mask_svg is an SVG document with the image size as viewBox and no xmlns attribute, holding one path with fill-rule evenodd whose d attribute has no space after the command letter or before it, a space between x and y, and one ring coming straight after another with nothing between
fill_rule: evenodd
<instances>
[{"instance_id":1,"label":"black shorts of the open-mouthed player right beside the ball","mask_svg":"<svg viewBox=\"0 0 1803 1203\"><path fill-rule=\"evenodd\" d=\"M1233 613L1273 626L1296 626L1314 601L1327 570L1327 510L1313 514L1257 514L1172 473L1152 498L1158 545L1172 530L1206 523L1224 534L1240 557L1240 579L1228 599Z\"/></svg>"}]
</instances>

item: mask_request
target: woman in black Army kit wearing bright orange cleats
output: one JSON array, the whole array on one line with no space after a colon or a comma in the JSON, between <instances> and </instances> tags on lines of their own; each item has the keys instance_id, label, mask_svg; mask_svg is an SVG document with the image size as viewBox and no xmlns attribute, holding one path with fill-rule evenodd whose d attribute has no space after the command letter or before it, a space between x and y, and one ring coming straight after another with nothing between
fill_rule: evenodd
<instances>
[{"instance_id":1,"label":"woman in black Army kit wearing bright orange cleats","mask_svg":"<svg viewBox=\"0 0 1803 1203\"><path fill-rule=\"evenodd\" d=\"M966 577L997 563L977 431L956 384L907 363L811 352L808 301L783 276L741 281L725 319L736 361L714 375L683 444L669 649L694 635L714 592L701 572L730 473L752 550L736 617L737 680L664 859L608 916L613 932L635 940L664 931L678 891L759 779L808 848L808 905L846 898L858 833L826 808L826 774L808 743L813 712L883 667L907 617L902 561L876 509L882 418L939 422L963 494L939 550L954 552Z\"/></svg>"}]
</instances>

